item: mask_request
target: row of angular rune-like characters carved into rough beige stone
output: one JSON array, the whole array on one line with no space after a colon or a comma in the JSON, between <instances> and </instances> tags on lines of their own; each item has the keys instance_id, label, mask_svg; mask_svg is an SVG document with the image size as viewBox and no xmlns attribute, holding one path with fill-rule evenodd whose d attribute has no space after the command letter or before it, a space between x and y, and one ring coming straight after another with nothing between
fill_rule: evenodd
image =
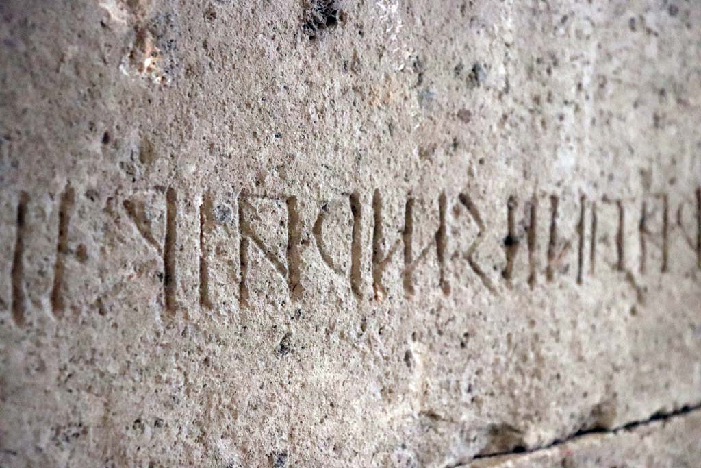
<instances>
[{"instance_id":1,"label":"row of angular rune-like characters carved into rough beige stone","mask_svg":"<svg viewBox=\"0 0 701 468\"><path fill-rule=\"evenodd\" d=\"M144 239L155 246L163 255L163 299L165 309L172 313L177 309L176 282L177 282L177 243L178 243L178 195L174 188L168 188L165 192L165 236L163 242L154 238L149 229L137 224L137 229ZM320 208L318 215L311 226L311 236L322 262L329 269L339 276L347 277L350 288L355 297L363 297L362 278L362 228L363 228L363 206L360 195L356 192L346 195L348 197L348 208L351 216L351 248L350 248L350 269L343 271L341 266L336 265L328 246L324 240L324 229L327 225L327 207ZM379 190L375 190L372 195L372 252L371 268L372 272L372 294L374 300L382 300L387 295L387 285L385 283L385 273L388 267L395 260L398 253L400 259L403 258L401 276L402 288L405 297L415 294L414 274L421 262L426 258L435 255L434 259L438 267L438 284L442 294L451 293L451 285L446 272L448 259L448 222L447 216L449 206L459 206L468 214L470 220L477 227L477 234L472 239L470 246L461 253L460 258L465 260L468 267L479 278L484 288L491 293L496 293L494 279L487 274L486 269L480 265L477 253L485 239L487 224L477 206L477 203L470 197L470 194L461 192L455 197L449 197L442 193L438 196L438 226L435 229L433 239L417 250L414 245L414 224L416 222L416 198L408 196L404 203L404 225L393 243L386 245L386 234L384 228L386 222L383 220L383 197ZM271 197L254 196L241 192L238 195L238 300L241 307L247 307L250 300L250 255L253 249L259 253L273 266L287 282L287 290L292 302L299 301L304 294L305 285L302 281L304 262L301 258L303 247L301 246L302 225L299 213L299 201L297 196L283 196L275 199L284 201L287 210L287 246L284 255L275 255L273 249L268 248L261 236L256 234L256 229L251 224L250 210L255 210L252 205L255 199L272 199ZM628 276L637 269L638 274L646 274L652 266L648 262L648 250L650 246L656 246L660 253L660 261L657 266L660 274L669 270L669 243L670 231L678 229L683 236L683 242L688 244L690 255L695 257L695 267L701 269L701 187L695 190L693 196L684 199L676 205L676 210L670 206L669 195L666 193L646 196L639 201L639 217L637 222L637 242L639 250L637 255L637 265L629 265L633 262L627 259L627 212L623 199L613 199L608 196L601 199L587 200L587 197L580 196L578 199L578 220L576 223L575 239L561 239L559 225L561 223L560 199L556 195L550 195L543 203L543 199L532 196L524 201L519 201L516 196L508 197L505 210L505 236L501 241L505 265L501 270L501 279L507 286L512 285L515 278L516 259L519 251L526 250L526 264L528 265L527 283L531 288L536 286L539 273L538 259L538 222L544 218L549 224L547 229L547 247L545 248L545 281L553 281L557 274L557 267L566 253L574 250L576 253L576 283L583 283L585 276L593 276L599 266L599 254L597 253L597 232L599 227L599 213L603 207L613 208L618 218L618 226L615 229L615 260L613 268ZM16 210L15 243L11 267L11 312L15 323L22 326L25 323L25 290L23 287L23 275L25 266L23 262L23 250L25 248L24 239L26 232L27 203L29 196L22 192L18 197ZM69 252L68 232L70 221L75 204L75 190L68 185L60 199L58 210L57 242L55 249L55 264L53 286L50 293L50 305L53 314L60 318L64 315L65 300L63 296L63 283L65 274L65 258ZM657 203L658 220L660 221L659 232L652 232L649 223L652 203ZM545 204L545 206L540 206ZM201 307L212 307L209 291L210 262L207 258L206 225L208 217L212 216L213 202L212 196L207 192L204 194L199 207L200 216L200 236L199 245L199 303ZM518 218L518 210L522 209L522 219ZM138 220L137 206L131 201L123 202L123 209L132 220ZM689 214L688 210L693 210L695 232L689 232L685 228L683 218ZM588 213L588 215L587 215ZM657 217L657 216L656 216ZM661 219L659 219L661 218ZM135 221L136 222L136 221ZM502 221L503 222L503 221ZM519 229L520 227L520 229ZM588 231L588 235L587 235ZM587 265L588 264L588 265Z\"/></svg>"}]
</instances>

